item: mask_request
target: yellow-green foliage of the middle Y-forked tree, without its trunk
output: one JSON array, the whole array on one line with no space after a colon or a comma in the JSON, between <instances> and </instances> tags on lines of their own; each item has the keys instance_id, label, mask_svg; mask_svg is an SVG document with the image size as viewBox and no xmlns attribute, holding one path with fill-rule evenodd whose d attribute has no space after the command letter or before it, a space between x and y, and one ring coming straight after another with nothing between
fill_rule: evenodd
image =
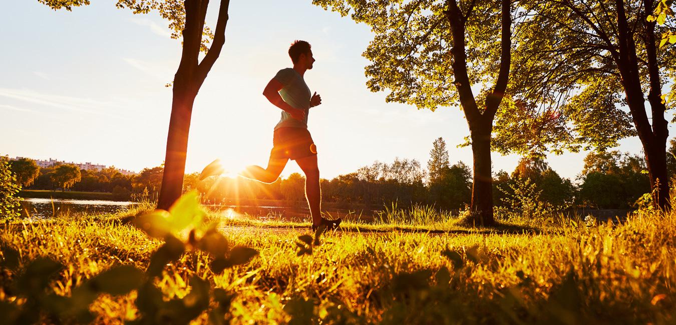
<instances>
[{"instance_id":1,"label":"yellow-green foliage of the middle Y-forked tree, without its trunk","mask_svg":"<svg viewBox=\"0 0 676 325\"><path fill-rule=\"evenodd\" d=\"M500 62L500 4L460 1L467 14L467 61L470 83L488 89ZM409 103L418 109L458 105L452 74L450 26L443 13L446 1L314 0L313 4L368 24L375 37L363 56L371 91L389 89L387 102ZM468 9L475 5L473 9ZM480 13L480 14L477 14ZM497 14L496 14L497 13ZM498 36L498 37L496 37ZM480 91L485 96L484 91Z\"/></svg>"}]
</instances>

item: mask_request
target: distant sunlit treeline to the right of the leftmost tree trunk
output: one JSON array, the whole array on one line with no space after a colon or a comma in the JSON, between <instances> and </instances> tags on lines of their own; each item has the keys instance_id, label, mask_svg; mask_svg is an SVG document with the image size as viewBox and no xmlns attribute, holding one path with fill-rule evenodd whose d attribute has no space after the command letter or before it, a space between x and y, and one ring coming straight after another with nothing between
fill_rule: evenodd
<instances>
[{"instance_id":1,"label":"distant sunlit treeline to the right of the leftmost tree trunk","mask_svg":"<svg viewBox=\"0 0 676 325\"><path fill-rule=\"evenodd\" d=\"M676 154L672 141L670 151ZM676 172L676 159L671 155L670 172ZM543 159L523 157L511 173L493 175L493 200L496 207L524 209L544 207L566 209L630 209L646 203L650 192L646 161L638 155L619 151L589 153L583 170L575 178L562 178ZM211 178L197 180L197 173L188 175L184 186L203 193L206 201L220 203L243 199L304 200L305 178L294 173L272 184L245 178ZM415 159L396 158L391 164L375 161L356 172L322 179L322 201L399 205L419 203L440 209L459 209L470 203L472 172L458 161L450 165L443 139L433 143L427 169ZM525 206L528 205L528 206Z\"/></svg>"}]
</instances>

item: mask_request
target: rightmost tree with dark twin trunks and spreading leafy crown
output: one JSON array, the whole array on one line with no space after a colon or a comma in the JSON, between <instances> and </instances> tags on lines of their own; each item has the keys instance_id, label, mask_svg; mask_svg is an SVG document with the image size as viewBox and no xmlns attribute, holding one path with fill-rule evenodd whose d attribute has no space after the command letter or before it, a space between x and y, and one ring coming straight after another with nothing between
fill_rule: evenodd
<instances>
[{"instance_id":1,"label":"rightmost tree with dark twin trunks and spreading leafy crown","mask_svg":"<svg viewBox=\"0 0 676 325\"><path fill-rule=\"evenodd\" d=\"M552 139L564 139L574 150L581 143L604 150L637 134L654 203L667 208L669 131L662 84L676 76L676 53L670 43L658 47L656 34L667 26L648 20L658 2L525 3L532 17L514 53L520 67L514 71L514 83L521 89L516 98L529 103L523 115L557 120L556 128L562 131ZM573 128L566 130L569 126Z\"/></svg>"}]
</instances>

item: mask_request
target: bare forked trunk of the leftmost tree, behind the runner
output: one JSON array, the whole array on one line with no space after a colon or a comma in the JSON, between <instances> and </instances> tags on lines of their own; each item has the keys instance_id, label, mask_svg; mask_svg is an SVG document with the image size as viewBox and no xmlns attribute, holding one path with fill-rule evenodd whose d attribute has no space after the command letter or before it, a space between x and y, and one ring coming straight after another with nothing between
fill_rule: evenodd
<instances>
[{"instance_id":1,"label":"bare forked trunk of the leftmost tree, behind the runner","mask_svg":"<svg viewBox=\"0 0 676 325\"><path fill-rule=\"evenodd\" d=\"M185 0L185 28L183 53L174 76L172 111L169 120L166 156L158 209L169 209L183 191L185 158L188 152L188 134L193 103L204 79L216 62L225 43L229 0L221 0L214 42L199 63L199 49L209 0Z\"/></svg>"}]
</instances>

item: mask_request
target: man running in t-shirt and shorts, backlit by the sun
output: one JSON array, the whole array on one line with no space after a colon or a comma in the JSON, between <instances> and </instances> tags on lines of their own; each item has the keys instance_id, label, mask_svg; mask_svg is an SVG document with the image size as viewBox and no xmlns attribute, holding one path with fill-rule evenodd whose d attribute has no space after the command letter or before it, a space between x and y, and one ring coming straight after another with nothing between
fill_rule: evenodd
<instances>
[{"instance_id":1,"label":"man running in t-shirt and shorts, backlit by the sun","mask_svg":"<svg viewBox=\"0 0 676 325\"><path fill-rule=\"evenodd\" d=\"M272 105L282 109L282 118L274 127L268 168L248 166L239 175L270 184L279 178L289 159L295 160L306 177L305 195L310 206L312 230L316 230L319 226L335 228L341 223L341 218L328 220L321 215L322 194L317 166L317 147L308 131L310 107L322 103L321 97L316 92L310 95L310 89L303 79L305 72L312 69L315 61L310 44L306 41L293 42L289 47L289 57L293 62L293 68L279 70L263 91L263 95ZM204 168L199 179L203 180L223 172L224 168L216 159Z\"/></svg>"}]
</instances>

